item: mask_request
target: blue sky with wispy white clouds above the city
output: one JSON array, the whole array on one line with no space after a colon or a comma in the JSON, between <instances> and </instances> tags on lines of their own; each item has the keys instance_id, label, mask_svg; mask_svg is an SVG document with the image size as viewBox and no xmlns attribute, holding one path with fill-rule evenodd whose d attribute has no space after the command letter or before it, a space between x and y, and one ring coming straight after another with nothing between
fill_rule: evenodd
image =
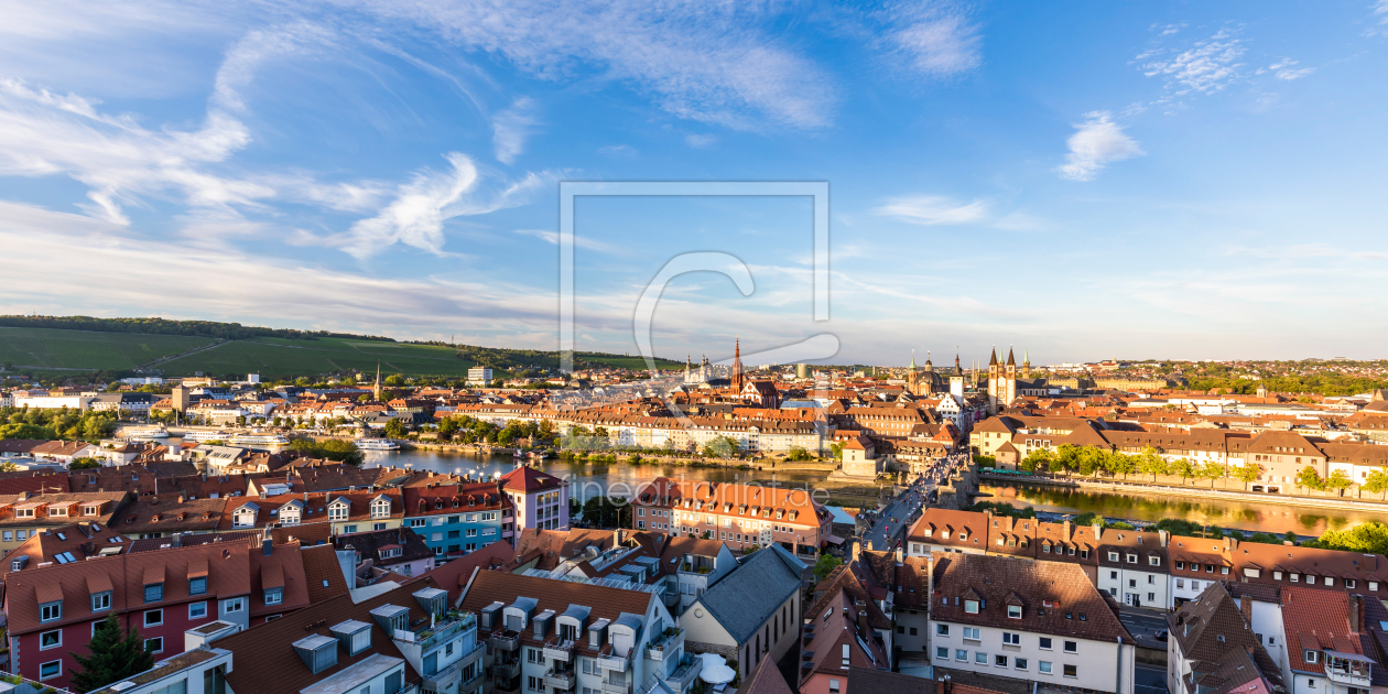
<instances>
[{"instance_id":1,"label":"blue sky with wispy white clouds above the city","mask_svg":"<svg viewBox=\"0 0 1388 694\"><path fill-rule=\"evenodd\" d=\"M0 7L0 307L833 362L1384 357L1388 0Z\"/></svg>"}]
</instances>

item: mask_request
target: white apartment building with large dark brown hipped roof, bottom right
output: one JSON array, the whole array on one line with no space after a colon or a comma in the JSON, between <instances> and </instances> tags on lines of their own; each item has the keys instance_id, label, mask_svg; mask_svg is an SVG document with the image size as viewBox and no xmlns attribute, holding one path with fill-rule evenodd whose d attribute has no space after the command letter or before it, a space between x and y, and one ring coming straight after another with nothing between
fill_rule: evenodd
<instances>
[{"instance_id":1,"label":"white apartment building with large dark brown hipped roof, bottom right","mask_svg":"<svg viewBox=\"0 0 1388 694\"><path fill-rule=\"evenodd\" d=\"M1074 565L934 552L931 662L1090 691L1133 691L1135 641Z\"/></svg>"}]
</instances>

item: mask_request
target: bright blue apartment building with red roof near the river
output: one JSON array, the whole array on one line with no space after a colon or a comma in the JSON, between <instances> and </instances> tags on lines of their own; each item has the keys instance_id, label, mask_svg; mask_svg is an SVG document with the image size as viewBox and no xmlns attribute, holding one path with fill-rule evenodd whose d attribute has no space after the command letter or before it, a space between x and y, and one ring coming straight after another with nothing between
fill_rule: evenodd
<instances>
[{"instance_id":1,"label":"bright blue apartment building with red roof near the river","mask_svg":"<svg viewBox=\"0 0 1388 694\"><path fill-rule=\"evenodd\" d=\"M502 484L490 482L405 487L405 527L439 562L464 557L497 540L515 541L515 507Z\"/></svg>"}]
</instances>

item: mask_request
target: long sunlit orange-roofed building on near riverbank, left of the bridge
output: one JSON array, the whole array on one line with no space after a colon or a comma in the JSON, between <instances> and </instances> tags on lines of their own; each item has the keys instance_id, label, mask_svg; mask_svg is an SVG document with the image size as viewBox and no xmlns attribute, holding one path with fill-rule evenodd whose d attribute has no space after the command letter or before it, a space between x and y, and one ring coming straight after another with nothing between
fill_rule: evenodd
<instances>
[{"instance_id":1,"label":"long sunlit orange-roofed building on near riverbank, left of the bridge","mask_svg":"<svg viewBox=\"0 0 1388 694\"><path fill-rule=\"evenodd\" d=\"M657 477L636 490L633 505L633 527L734 548L779 544L812 559L829 543L843 543L830 532L829 511L806 490Z\"/></svg>"}]
</instances>

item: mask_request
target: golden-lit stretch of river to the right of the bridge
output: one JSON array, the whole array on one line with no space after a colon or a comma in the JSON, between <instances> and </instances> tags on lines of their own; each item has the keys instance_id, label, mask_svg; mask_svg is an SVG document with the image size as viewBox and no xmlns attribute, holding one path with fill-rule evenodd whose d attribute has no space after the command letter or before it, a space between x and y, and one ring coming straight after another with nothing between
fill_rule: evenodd
<instances>
[{"instance_id":1,"label":"golden-lit stretch of river to the right of the bridge","mask_svg":"<svg viewBox=\"0 0 1388 694\"><path fill-rule=\"evenodd\" d=\"M1326 530L1342 530L1364 520L1388 520L1384 514L1360 509L1328 509L1256 504L1224 498L1162 497L1146 494L1113 494L1065 487L983 486L987 501L1004 501L1013 507L1033 507L1058 514L1095 512L1105 518L1160 520L1180 518L1201 525L1217 525L1238 530L1284 534L1288 530L1302 536L1319 536Z\"/></svg>"}]
</instances>

